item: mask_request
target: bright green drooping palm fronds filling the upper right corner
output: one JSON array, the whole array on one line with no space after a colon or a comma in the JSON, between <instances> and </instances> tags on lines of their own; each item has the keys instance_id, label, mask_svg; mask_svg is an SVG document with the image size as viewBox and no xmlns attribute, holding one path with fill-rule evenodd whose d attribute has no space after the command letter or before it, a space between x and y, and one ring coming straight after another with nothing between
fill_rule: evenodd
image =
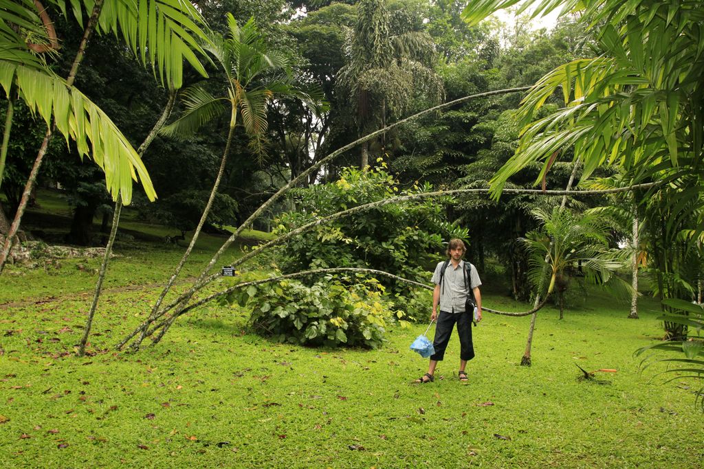
<instances>
[{"instance_id":1,"label":"bright green drooping palm fronds filling the upper right corner","mask_svg":"<svg viewBox=\"0 0 704 469\"><path fill-rule=\"evenodd\" d=\"M470 0L465 18L517 3ZM514 158L492 181L498 195L511 174L555 150L574 146L584 160L583 179L599 165L677 168L702 158L701 103L704 60L699 1L528 0L521 8L542 14L562 7L579 12L596 33L603 56L562 65L546 75L522 103L524 129ZM546 98L560 90L565 108L533 122ZM688 158L689 157L689 158ZM543 174L548 169L543 165ZM642 174L643 172L641 172ZM543 176L539 176L539 179ZM646 175L648 175L646 173Z\"/></svg>"}]
</instances>

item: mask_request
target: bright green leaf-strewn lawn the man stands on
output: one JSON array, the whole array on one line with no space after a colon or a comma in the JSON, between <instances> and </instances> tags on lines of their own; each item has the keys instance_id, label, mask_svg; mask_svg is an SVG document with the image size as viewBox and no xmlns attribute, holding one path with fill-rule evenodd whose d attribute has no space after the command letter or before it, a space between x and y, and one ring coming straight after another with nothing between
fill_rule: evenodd
<instances>
[{"instance_id":1,"label":"bright green leaf-strewn lawn the man stands on","mask_svg":"<svg viewBox=\"0 0 704 469\"><path fill-rule=\"evenodd\" d=\"M159 280L146 272L164 271L161 262L156 251L117 259L112 285ZM79 359L91 296L75 285L89 291L94 279L70 262L0 277L12 286L0 289L5 467L702 467L700 383L664 384L633 357L662 335L652 300L637 321L594 292L562 321L544 309L530 368L519 366L529 317L486 314L468 385L456 378L456 337L435 383L413 385L427 366L408 349L421 324L391 328L377 350L311 349L250 335L246 311L213 305L156 347L115 352L156 288L103 295L91 356ZM56 298L32 302L47 295ZM484 303L524 309L489 293ZM575 364L618 371L598 373L603 384L579 381Z\"/></svg>"}]
</instances>

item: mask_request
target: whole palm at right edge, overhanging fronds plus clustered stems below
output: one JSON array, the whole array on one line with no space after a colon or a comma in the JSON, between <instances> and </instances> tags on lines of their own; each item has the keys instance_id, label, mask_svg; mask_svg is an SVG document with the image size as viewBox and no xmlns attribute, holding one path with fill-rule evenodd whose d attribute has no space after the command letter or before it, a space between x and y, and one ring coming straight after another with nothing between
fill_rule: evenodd
<instances>
[{"instance_id":1,"label":"whole palm at right edge, overhanging fronds plus clustered stems below","mask_svg":"<svg viewBox=\"0 0 704 469\"><path fill-rule=\"evenodd\" d=\"M470 0L463 15L476 22L516 3ZM583 158L582 180L596 167L612 165L626 176L627 184L667 183L637 202L657 208L646 210L653 218L643 221L658 232L658 240L665 241L650 256L660 265L658 291L662 298L684 299L689 285L681 280L691 263L683 259L696 243L678 243L671 249L670 242L687 230L696 231L696 236L689 236L696 240L704 221L701 2L527 0L520 11L531 7L534 15L558 7L562 13L582 15L603 53L555 68L524 98L519 117L526 127L516 154L492 180L494 195L512 174L532 162L542 161L543 173L547 172L550 155L570 146ZM536 112L555 92L561 92L565 107L536 119ZM665 213L667 218L662 218ZM672 326L668 335L681 330L676 323Z\"/></svg>"}]
</instances>

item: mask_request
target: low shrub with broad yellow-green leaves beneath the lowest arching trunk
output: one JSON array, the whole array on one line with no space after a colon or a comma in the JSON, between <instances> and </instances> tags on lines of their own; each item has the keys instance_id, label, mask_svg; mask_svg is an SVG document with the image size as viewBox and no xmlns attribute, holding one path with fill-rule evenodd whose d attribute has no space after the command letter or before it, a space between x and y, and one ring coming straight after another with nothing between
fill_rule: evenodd
<instances>
[{"instance_id":1,"label":"low shrub with broad yellow-green leaves beneath the lowest arching trunk","mask_svg":"<svg viewBox=\"0 0 704 469\"><path fill-rule=\"evenodd\" d=\"M386 326L403 317L386 307L383 293L375 278L348 285L328 276L310 286L290 279L249 285L228 300L251 307L251 327L279 342L377 348Z\"/></svg>"}]
</instances>

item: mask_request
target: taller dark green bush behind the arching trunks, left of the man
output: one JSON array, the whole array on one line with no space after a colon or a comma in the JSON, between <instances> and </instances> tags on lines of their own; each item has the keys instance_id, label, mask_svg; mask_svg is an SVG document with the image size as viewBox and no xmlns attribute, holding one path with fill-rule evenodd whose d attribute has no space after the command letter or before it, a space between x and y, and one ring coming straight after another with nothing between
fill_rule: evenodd
<instances>
[{"instance_id":1,"label":"taller dark green bush behind the arching trunks, left of the man","mask_svg":"<svg viewBox=\"0 0 704 469\"><path fill-rule=\"evenodd\" d=\"M385 170L363 172L343 169L340 178L329 184L316 184L294 191L298 210L280 215L277 233L287 233L303 224L351 207L374 203L398 195L432 191L429 184L400 188ZM277 266L284 272L327 267L377 269L410 280L427 282L427 266L437 262L437 253L449 238L467 239L467 230L446 221L444 203L452 198L424 198L387 204L317 226L303 236L289 240L277 251ZM393 295L408 297L406 284L381 279ZM402 299L398 304L406 304Z\"/></svg>"}]
</instances>

